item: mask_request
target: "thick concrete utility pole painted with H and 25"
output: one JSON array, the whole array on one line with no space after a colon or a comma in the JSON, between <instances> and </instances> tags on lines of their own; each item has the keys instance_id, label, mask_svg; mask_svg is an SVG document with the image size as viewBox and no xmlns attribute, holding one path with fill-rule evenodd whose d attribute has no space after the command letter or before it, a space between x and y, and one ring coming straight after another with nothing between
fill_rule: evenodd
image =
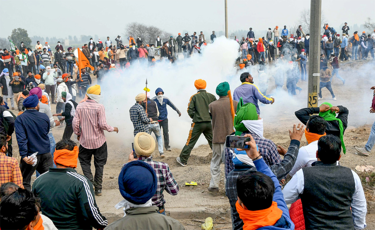
<instances>
[{"instance_id":1,"label":"thick concrete utility pole painted with H and 25","mask_svg":"<svg viewBox=\"0 0 375 230\"><path fill-rule=\"evenodd\" d=\"M320 25L322 0L311 0L308 107L318 107L318 80L320 79Z\"/></svg>"}]
</instances>

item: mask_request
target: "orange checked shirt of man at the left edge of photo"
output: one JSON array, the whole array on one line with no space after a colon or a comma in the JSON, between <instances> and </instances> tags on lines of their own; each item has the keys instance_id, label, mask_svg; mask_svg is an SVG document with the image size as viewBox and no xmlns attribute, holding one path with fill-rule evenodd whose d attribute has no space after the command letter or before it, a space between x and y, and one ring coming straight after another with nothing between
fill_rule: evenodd
<instances>
[{"instance_id":1,"label":"orange checked shirt of man at the left edge of photo","mask_svg":"<svg viewBox=\"0 0 375 230\"><path fill-rule=\"evenodd\" d=\"M22 174L17 160L13 157L5 156L5 153L0 153L0 185L13 182L24 188L22 181Z\"/></svg>"}]
</instances>

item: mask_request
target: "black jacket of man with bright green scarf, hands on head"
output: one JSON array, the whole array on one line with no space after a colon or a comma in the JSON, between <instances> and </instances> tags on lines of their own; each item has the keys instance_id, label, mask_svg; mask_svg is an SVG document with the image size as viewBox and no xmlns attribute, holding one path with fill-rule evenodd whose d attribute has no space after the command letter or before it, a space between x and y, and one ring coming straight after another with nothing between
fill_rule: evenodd
<instances>
[{"instance_id":1,"label":"black jacket of man with bright green scarf, hands on head","mask_svg":"<svg viewBox=\"0 0 375 230\"><path fill-rule=\"evenodd\" d=\"M336 118L340 119L342 122L342 127L344 128L343 133L345 132L345 129L348 127L348 114L349 110L342 106L338 105L339 107L339 113ZM296 117L298 120L300 120L304 125L308 122L310 119L310 115L314 113L319 113L319 107L314 107L314 108L302 108L298 111L296 111L294 114L296 114ZM340 128L339 128L339 123L337 120L332 120L332 121L326 121L327 122L327 128L326 128L326 134L332 134L337 137L340 137Z\"/></svg>"}]
</instances>

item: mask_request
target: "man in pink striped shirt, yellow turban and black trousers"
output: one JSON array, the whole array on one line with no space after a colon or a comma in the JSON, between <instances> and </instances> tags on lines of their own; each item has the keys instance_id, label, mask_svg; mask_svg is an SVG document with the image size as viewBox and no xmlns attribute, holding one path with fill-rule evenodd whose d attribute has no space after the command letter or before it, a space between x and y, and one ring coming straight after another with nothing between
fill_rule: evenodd
<instances>
[{"instance_id":1,"label":"man in pink striped shirt, yellow turban and black trousers","mask_svg":"<svg viewBox=\"0 0 375 230\"><path fill-rule=\"evenodd\" d=\"M107 163L107 141L104 130L117 132L117 127L107 124L104 105L99 104L99 85L87 89L88 99L77 105L73 119L73 130L80 141L78 159L83 174L95 187L95 194L102 195L103 168ZM94 155L95 176L91 172L91 158Z\"/></svg>"}]
</instances>

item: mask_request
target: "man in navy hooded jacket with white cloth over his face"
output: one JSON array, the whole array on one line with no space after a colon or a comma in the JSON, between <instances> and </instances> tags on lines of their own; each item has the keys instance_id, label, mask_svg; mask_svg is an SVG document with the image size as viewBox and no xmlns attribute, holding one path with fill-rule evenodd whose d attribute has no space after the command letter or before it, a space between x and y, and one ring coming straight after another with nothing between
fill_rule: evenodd
<instances>
[{"instance_id":1,"label":"man in navy hooded jacket with white cloth over his face","mask_svg":"<svg viewBox=\"0 0 375 230\"><path fill-rule=\"evenodd\" d=\"M164 136L164 147L166 151L172 151L171 146L169 145L169 134L168 134L168 111L166 109L166 105L169 105L174 111L177 112L178 116L181 117L181 112L178 110L177 107L167 98L164 96L164 91L161 88L157 88L155 91L156 97L152 98L157 105L157 109L159 110L159 117L157 120L159 121L160 130L163 129L163 136ZM159 143L158 143L159 144Z\"/></svg>"}]
</instances>

